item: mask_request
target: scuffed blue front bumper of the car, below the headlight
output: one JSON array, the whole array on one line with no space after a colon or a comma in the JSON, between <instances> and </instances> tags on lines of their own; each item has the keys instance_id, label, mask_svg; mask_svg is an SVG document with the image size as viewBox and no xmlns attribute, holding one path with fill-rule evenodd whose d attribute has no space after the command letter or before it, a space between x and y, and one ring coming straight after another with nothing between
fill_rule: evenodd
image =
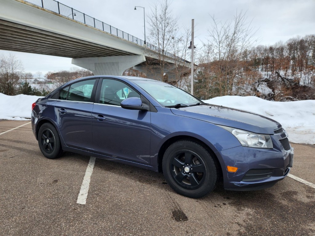
<instances>
[{"instance_id":1,"label":"scuffed blue front bumper of the car, below the headlight","mask_svg":"<svg viewBox=\"0 0 315 236\"><path fill-rule=\"evenodd\" d=\"M224 188L227 190L249 191L272 187L284 179L293 166L294 149L255 149L235 147L220 152ZM238 167L229 172L226 166Z\"/></svg>"}]
</instances>

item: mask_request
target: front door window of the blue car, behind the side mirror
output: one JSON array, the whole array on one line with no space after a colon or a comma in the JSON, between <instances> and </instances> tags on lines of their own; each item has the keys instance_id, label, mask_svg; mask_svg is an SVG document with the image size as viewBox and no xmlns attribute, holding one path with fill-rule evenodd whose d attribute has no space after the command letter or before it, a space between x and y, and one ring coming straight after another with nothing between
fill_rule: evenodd
<instances>
[{"instance_id":1,"label":"front door window of the blue car, behind the side mirror","mask_svg":"<svg viewBox=\"0 0 315 236\"><path fill-rule=\"evenodd\" d=\"M102 87L100 91L100 103L110 105L120 105L120 103L126 98L138 97L140 94L137 93L133 88L127 84L112 79L103 79Z\"/></svg>"}]
</instances>

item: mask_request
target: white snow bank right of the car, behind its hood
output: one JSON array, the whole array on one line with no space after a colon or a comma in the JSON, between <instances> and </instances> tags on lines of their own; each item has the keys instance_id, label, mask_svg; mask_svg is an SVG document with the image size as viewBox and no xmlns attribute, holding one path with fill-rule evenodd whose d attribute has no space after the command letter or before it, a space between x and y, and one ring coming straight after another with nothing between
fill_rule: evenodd
<instances>
[{"instance_id":1,"label":"white snow bank right of the car, behind its hood","mask_svg":"<svg viewBox=\"0 0 315 236\"><path fill-rule=\"evenodd\" d=\"M254 96L223 96L205 102L264 115L284 127L290 142L315 144L315 100L273 102Z\"/></svg>"}]
</instances>

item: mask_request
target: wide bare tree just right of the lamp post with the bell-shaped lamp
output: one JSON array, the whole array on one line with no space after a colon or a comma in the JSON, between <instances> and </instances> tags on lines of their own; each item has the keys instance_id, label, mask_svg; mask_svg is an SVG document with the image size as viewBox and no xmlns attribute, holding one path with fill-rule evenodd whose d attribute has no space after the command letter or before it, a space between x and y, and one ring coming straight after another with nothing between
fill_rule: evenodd
<instances>
[{"instance_id":1,"label":"wide bare tree just right of the lamp post with the bell-shaped lamp","mask_svg":"<svg viewBox=\"0 0 315 236\"><path fill-rule=\"evenodd\" d=\"M218 22L214 16L211 19L213 24L208 30L210 39L204 44L199 63L209 67L208 79L215 80L209 84L216 86L219 96L232 95L235 86L242 86L240 81L235 83L235 79L246 81L243 72L249 59L248 50L257 42L254 38L256 31L251 27L246 12L236 13L230 22Z\"/></svg>"}]
</instances>

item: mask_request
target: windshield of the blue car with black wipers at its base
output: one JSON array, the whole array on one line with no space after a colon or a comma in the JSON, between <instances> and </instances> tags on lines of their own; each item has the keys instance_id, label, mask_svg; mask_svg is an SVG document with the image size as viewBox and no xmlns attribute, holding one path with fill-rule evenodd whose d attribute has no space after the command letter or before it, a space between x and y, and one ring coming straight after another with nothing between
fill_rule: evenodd
<instances>
[{"instance_id":1,"label":"windshield of the blue car with black wipers at its base","mask_svg":"<svg viewBox=\"0 0 315 236\"><path fill-rule=\"evenodd\" d=\"M161 81L133 80L133 82L149 93L159 104L165 107L172 107L175 105L190 106L203 103L178 87Z\"/></svg>"}]
</instances>

